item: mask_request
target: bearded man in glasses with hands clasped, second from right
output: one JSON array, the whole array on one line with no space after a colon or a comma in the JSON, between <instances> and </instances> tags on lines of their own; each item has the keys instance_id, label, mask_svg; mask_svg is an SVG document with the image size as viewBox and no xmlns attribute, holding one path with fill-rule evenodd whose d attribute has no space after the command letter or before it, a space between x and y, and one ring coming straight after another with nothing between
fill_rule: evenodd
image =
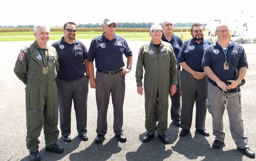
<instances>
[{"instance_id":1,"label":"bearded man in glasses with hands clasped, second from right","mask_svg":"<svg viewBox=\"0 0 256 161\"><path fill-rule=\"evenodd\" d=\"M199 23L191 27L192 39L184 41L177 62L183 68L181 71L181 125L180 136L190 132L193 106L196 102L196 131L204 136L210 136L205 130L207 76L201 64L203 53L211 41L203 39L203 26Z\"/></svg>"}]
</instances>

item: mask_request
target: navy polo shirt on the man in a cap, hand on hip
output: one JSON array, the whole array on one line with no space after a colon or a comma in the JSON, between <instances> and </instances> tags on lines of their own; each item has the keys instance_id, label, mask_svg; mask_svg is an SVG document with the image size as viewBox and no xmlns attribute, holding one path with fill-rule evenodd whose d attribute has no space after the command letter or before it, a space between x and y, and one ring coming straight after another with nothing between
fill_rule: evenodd
<instances>
[{"instance_id":1,"label":"navy polo shirt on the man in a cap, hand on hip","mask_svg":"<svg viewBox=\"0 0 256 161\"><path fill-rule=\"evenodd\" d=\"M114 38L110 41L104 34L105 32L92 40L87 60L95 59L95 67L99 70L118 70L125 65L123 54L127 58L133 53L123 37L114 34Z\"/></svg>"}]
</instances>

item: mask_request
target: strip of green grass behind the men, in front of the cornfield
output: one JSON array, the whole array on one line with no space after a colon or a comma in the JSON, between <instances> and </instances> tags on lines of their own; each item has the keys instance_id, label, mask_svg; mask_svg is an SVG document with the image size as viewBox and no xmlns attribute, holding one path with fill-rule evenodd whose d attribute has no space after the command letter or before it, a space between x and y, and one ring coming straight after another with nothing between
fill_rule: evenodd
<instances>
[{"instance_id":1,"label":"strip of green grass behind the men, in front of the cornfield","mask_svg":"<svg viewBox=\"0 0 256 161\"><path fill-rule=\"evenodd\" d=\"M135 40L135 41L150 41L149 32L115 32L118 35L121 35L123 38L127 40ZM77 31L76 38L77 39L92 39L97 36L100 36L102 32L79 32ZM181 32L174 32L174 34L181 37ZM185 41L189 38L192 38L190 33L183 32L182 40ZM51 31L50 32L50 40L59 40L63 36L63 31ZM0 42L4 41L34 41L36 38L34 37L33 32L0 32Z\"/></svg>"}]
</instances>

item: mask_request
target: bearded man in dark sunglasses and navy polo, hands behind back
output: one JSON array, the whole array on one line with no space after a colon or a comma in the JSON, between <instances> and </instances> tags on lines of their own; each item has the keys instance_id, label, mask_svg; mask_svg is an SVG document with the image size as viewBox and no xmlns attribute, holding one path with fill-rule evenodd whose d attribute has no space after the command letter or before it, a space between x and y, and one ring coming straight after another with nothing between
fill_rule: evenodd
<instances>
[{"instance_id":1,"label":"bearded man in dark sunglasses and navy polo, hands behind back","mask_svg":"<svg viewBox=\"0 0 256 161\"><path fill-rule=\"evenodd\" d=\"M60 70L56 79L58 105L60 111L60 130L64 142L71 142L72 100L77 123L77 133L87 141L87 96L90 77L87 69L87 48L82 41L75 39L76 24L64 24L64 36L52 44L58 53ZM85 76L85 73L87 76Z\"/></svg>"}]
</instances>

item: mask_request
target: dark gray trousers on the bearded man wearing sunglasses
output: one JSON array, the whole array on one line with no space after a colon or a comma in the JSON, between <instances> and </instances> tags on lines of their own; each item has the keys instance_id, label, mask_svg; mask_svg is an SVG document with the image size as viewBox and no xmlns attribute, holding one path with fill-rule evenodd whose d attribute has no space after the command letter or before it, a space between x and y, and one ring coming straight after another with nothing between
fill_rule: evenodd
<instances>
[{"instance_id":1,"label":"dark gray trousers on the bearded man wearing sunglasses","mask_svg":"<svg viewBox=\"0 0 256 161\"><path fill-rule=\"evenodd\" d=\"M83 75L73 82L56 79L58 87L58 104L60 111L61 135L70 135L71 108L74 103L77 132L79 135L87 133L87 97L89 79Z\"/></svg>"}]
</instances>

